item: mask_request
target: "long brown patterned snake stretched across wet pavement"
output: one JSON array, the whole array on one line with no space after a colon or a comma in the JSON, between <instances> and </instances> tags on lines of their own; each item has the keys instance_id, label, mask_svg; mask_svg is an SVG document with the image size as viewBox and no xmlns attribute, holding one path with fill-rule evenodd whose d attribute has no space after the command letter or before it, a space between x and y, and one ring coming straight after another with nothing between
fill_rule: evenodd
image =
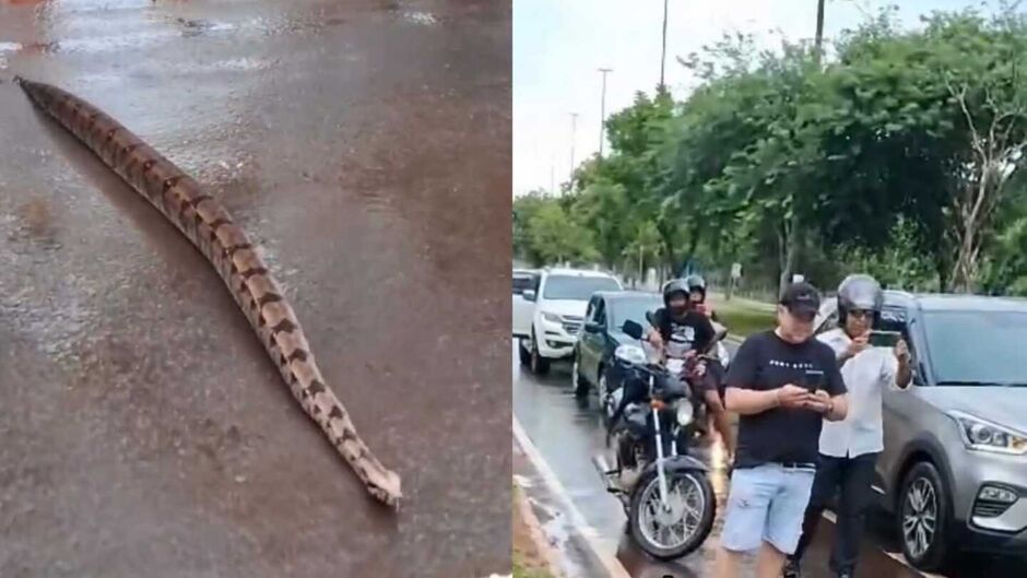
<instances>
[{"instance_id":1,"label":"long brown patterned snake stretched across wet pavement","mask_svg":"<svg viewBox=\"0 0 1027 578\"><path fill-rule=\"evenodd\" d=\"M304 412L367 492L399 509L399 475L371 453L351 414L326 384L296 314L243 228L189 175L87 101L15 76L33 104L73 134L155 207L214 267Z\"/></svg>"}]
</instances>

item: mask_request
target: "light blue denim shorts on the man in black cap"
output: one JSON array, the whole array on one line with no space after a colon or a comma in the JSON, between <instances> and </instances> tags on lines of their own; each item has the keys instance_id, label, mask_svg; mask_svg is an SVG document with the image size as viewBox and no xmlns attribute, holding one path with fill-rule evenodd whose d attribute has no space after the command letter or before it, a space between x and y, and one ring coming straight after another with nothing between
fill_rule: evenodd
<instances>
[{"instance_id":1,"label":"light blue denim shorts on the man in black cap","mask_svg":"<svg viewBox=\"0 0 1027 578\"><path fill-rule=\"evenodd\" d=\"M795 552L813 488L813 468L765 463L731 474L721 545L748 552L760 543L784 554Z\"/></svg>"}]
</instances>

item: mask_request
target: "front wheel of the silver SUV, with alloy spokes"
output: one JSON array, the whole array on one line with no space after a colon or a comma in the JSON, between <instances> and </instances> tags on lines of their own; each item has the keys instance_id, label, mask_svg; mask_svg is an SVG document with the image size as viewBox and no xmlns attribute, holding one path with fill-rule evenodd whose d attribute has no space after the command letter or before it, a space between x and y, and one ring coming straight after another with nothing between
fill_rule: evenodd
<instances>
[{"instance_id":1,"label":"front wheel of the silver SUV, with alloy spokes","mask_svg":"<svg viewBox=\"0 0 1027 578\"><path fill-rule=\"evenodd\" d=\"M937 469L920 462L906 474L898 496L896 522L902 554L916 568L941 569L948 561L952 506Z\"/></svg>"}]
</instances>

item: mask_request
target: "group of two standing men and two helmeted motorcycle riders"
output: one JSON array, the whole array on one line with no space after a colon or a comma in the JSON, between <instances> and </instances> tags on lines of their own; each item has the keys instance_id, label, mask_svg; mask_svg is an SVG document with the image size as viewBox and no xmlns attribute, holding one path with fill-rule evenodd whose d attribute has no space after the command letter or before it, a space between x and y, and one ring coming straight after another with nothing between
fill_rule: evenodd
<instances>
[{"instance_id":1,"label":"group of two standing men and two helmeted motorcycle riders","mask_svg":"<svg viewBox=\"0 0 1027 578\"><path fill-rule=\"evenodd\" d=\"M703 356L694 376L731 463L715 576L735 578L742 554L758 551L756 578L799 578L828 500L839 496L830 570L851 578L874 465L884 448L882 392L912 379L899 338L870 344L884 302L881 284L853 274L838 287L838 327L814 335L821 296L805 282L786 288L777 327L748 337L728 368L713 345L716 314L698 275L668 283L649 342L668 356ZM728 414L739 415L737 437Z\"/></svg>"}]
</instances>

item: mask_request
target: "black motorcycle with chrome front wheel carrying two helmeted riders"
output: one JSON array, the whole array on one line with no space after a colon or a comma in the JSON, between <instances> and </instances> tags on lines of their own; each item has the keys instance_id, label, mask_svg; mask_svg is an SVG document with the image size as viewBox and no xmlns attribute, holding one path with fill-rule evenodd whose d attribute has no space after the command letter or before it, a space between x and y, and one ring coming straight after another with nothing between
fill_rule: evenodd
<instances>
[{"instance_id":1,"label":"black motorcycle with chrome front wheel carrying two helmeted riders","mask_svg":"<svg viewBox=\"0 0 1027 578\"><path fill-rule=\"evenodd\" d=\"M641 325L627 321L623 331L641 341ZM706 541L717 512L709 469L688 455L690 388L638 345L621 345L614 356L626 369L621 389L645 394L627 404L611 430L615 468L602 455L593 463L621 500L633 540L654 558L680 558Z\"/></svg>"}]
</instances>

